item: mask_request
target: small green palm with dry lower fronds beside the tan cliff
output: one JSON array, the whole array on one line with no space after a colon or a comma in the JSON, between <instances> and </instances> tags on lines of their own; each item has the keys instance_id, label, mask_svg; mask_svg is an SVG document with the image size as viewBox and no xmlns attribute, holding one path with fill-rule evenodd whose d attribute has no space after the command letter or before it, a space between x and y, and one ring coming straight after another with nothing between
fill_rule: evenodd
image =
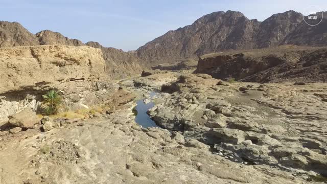
<instances>
[{"instance_id":1,"label":"small green palm with dry lower fronds beside the tan cliff","mask_svg":"<svg viewBox=\"0 0 327 184\"><path fill-rule=\"evenodd\" d=\"M42 96L41 108L46 115L57 114L62 105L62 97L55 91L50 90Z\"/></svg>"}]
</instances>

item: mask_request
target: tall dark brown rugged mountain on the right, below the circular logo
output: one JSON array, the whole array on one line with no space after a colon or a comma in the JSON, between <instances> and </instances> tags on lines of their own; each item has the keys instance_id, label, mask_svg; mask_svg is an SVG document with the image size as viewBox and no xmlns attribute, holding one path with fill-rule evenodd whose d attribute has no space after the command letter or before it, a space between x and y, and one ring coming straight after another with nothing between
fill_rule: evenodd
<instances>
[{"instance_id":1,"label":"tall dark brown rugged mountain on the right, below the circular logo","mask_svg":"<svg viewBox=\"0 0 327 184\"><path fill-rule=\"evenodd\" d=\"M327 18L309 26L301 13L277 13L264 21L248 19L241 12L219 11L192 25L169 31L136 50L149 63L167 63L223 50L259 49L283 44L325 45Z\"/></svg>"}]
</instances>

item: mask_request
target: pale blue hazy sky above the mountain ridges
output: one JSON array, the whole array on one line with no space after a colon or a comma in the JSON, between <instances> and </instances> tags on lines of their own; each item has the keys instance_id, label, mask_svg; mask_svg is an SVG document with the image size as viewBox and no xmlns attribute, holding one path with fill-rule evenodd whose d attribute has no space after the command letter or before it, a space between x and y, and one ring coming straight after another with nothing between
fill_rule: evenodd
<instances>
[{"instance_id":1,"label":"pale blue hazy sky above the mountain ridges","mask_svg":"<svg viewBox=\"0 0 327 184\"><path fill-rule=\"evenodd\" d=\"M0 20L17 21L33 34L52 30L129 51L215 11L240 11L263 21L288 10L303 13L308 6L327 11L326 0L0 0Z\"/></svg>"}]
</instances>

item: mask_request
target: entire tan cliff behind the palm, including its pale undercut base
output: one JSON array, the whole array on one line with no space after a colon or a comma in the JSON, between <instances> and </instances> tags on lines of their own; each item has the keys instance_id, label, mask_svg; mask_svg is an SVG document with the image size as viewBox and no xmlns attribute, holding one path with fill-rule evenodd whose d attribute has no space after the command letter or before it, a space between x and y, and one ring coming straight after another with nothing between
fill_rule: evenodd
<instances>
[{"instance_id":1,"label":"entire tan cliff behind the palm, including its pale undercut base","mask_svg":"<svg viewBox=\"0 0 327 184\"><path fill-rule=\"evenodd\" d=\"M103 102L114 90L99 49L65 45L0 48L0 125L22 109L36 111L56 89L67 109Z\"/></svg>"}]
</instances>

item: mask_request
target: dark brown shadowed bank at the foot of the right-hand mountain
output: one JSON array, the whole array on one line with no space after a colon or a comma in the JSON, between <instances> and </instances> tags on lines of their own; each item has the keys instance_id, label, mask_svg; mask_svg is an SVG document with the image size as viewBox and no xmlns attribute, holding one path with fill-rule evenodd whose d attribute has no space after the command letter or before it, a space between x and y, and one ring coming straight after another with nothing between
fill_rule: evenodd
<instances>
[{"instance_id":1,"label":"dark brown shadowed bank at the foot of the right-hand mountain","mask_svg":"<svg viewBox=\"0 0 327 184\"><path fill-rule=\"evenodd\" d=\"M326 48L295 45L213 53L200 57L195 72L247 82L325 82L326 55Z\"/></svg>"}]
</instances>

